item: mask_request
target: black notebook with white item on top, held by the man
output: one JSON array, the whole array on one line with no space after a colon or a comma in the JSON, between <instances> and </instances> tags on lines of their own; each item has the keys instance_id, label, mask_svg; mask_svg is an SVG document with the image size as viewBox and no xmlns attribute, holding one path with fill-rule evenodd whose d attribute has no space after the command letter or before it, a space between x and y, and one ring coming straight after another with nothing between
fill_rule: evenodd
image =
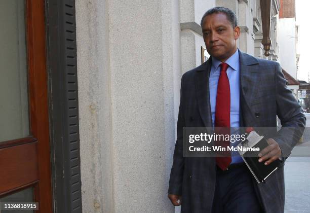
<instances>
[{"instance_id":1,"label":"black notebook with white item on top, held by the man","mask_svg":"<svg viewBox=\"0 0 310 213\"><path fill-rule=\"evenodd\" d=\"M263 136L259 136L255 131L250 132L247 139L242 141L238 146L246 148L259 148L259 151L239 151L257 183L265 182L267 177L272 174L281 163L279 159L273 161L269 165L265 165L264 162L258 162L259 152L267 147L268 143Z\"/></svg>"}]
</instances>

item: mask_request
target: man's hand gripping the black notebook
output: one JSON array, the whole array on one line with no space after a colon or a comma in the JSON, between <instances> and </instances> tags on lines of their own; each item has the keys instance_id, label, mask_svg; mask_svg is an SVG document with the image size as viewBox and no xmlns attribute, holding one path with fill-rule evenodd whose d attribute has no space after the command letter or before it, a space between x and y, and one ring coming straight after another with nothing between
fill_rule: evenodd
<instances>
[{"instance_id":1,"label":"man's hand gripping the black notebook","mask_svg":"<svg viewBox=\"0 0 310 213\"><path fill-rule=\"evenodd\" d=\"M269 138L267 139L267 143L269 144L269 146L260 151L260 153L258 154L258 157L260 157L258 161L266 161L265 165L268 165L271 162L277 160L279 157L281 157L282 154L279 144L276 140Z\"/></svg>"}]
</instances>

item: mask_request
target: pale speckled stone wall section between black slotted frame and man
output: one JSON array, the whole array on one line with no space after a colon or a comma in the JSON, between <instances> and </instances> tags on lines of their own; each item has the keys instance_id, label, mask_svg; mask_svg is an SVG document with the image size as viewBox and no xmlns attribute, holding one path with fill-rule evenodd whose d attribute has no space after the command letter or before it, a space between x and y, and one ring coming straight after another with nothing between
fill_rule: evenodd
<instances>
[{"instance_id":1,"label":"pale speckled stone wall section between black slotted frame and man","mask_svg":"<svg viewBox=\"0 0 310 213\"><path fill-rule=\"evenodd\" d=\"M84 212L173 212L178 1L75 1Z\"/></svg>"}]
</instances>

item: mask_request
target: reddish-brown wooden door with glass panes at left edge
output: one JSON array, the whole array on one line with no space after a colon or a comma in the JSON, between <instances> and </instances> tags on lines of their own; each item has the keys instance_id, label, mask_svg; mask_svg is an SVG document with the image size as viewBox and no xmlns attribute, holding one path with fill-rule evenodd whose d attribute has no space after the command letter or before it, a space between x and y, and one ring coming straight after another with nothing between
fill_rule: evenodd
<instances>
[{"instance_id":1,"label":"reddish-brown wooden door with glass panes at left edge","mask_svg":"<svg viewBox=\"0 0 310 213\"><path fill-rule=\"evenodd\" d=\"M0 26L0 202L52 212L44 1L0 1Z\"/></svg>"}]
</instances>

